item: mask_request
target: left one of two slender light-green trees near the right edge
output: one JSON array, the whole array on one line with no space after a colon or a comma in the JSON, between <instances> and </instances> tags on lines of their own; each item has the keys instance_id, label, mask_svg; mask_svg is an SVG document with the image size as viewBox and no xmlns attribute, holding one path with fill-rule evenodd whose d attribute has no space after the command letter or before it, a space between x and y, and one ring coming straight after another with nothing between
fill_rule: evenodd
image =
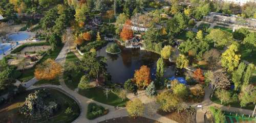
<instances>
[{"instance_id":1,"label":"left one of two slender light-green trees near the right edge","mask_svg":"<svg viewBox=\"0 0 256 123\"><path fill-rule=\"evenodd\" d=\"M232 72L232 82L234 83L234 90L238 90L241 87L242 75L245 70L246 64L241 62L238 69Z\"/></svg>"}]
</instances>

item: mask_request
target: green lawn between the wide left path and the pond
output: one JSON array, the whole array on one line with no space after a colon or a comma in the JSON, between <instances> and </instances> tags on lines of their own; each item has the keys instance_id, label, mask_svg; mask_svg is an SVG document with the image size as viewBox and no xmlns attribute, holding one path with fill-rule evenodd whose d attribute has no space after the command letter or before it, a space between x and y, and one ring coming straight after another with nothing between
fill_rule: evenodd
<instances>
[{"instance_id":1,"label":"green lawn between the wide left path and the pond","mask_svg":"<svg viewBox=\"0 0 256 123\"><path fill-rule=\"evenodd\" d=\"M80 61L80 60L76 57L76 55L73 52L69 52L66 57L65 64L69 64L70 62L76 62L76 61ZM82 75L83 75L82 72L72 75L71 82L65 81L66 85L72 90L76 89L80 82L80 78L82 77Z\"/></svg>"}]
</instances>

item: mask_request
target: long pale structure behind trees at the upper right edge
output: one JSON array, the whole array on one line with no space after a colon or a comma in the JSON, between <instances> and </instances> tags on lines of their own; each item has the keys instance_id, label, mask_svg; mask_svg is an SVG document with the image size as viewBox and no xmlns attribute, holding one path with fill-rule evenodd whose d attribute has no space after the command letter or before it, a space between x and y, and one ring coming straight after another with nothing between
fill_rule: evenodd
<instances>
[{"instance_id":1,"label":"long pale structure behind trees at the upper right edge","mask_svg":"<svg viewBox=\"0 0 256 123\"><path fill-rule=\"evenodd\" d=\"M243 19L237 16L229 16L221 13L210 12L208 16L204 16L203 20L206 22L221 22L225 24L236 24L238 26L244 26L252 29L256 29L256 20Z\"/></svg>"}]
</instances>

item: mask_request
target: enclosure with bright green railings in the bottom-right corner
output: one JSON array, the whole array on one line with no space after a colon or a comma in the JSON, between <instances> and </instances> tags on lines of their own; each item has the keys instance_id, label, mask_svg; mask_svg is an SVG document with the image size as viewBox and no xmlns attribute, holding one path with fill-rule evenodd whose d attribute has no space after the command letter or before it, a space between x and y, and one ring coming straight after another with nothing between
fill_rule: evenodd
<instances>
[{"instance_id":1,"label":"enclosure with bright green railings in the bottom-right corner","mask_svg":"<svg viewBox=\"0 0 256 123\"><path fill-rule=\"evenodd\" d=\"M244 114L239 114L235 112L227 112L224 111L224 115L226 117L226 123L255 123L256 122L256 116L251 116L251 115L244 115Z\"/></svg>"}]
</instances>

